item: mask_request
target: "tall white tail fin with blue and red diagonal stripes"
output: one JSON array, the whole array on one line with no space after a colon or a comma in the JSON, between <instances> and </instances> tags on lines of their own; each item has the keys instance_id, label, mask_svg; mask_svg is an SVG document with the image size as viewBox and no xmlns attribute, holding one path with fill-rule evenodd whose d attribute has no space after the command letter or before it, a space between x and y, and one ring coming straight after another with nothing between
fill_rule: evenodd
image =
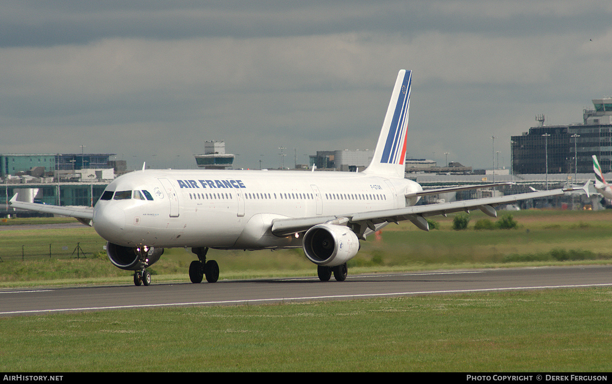
<instances>
[{"instance_id":1,"label":"tall white tail fin with blue and red diagonal stripes","mask_svg":"<svg viewBox=\"0 0 612 384\"><path fill-rule=\"evenodd\" d=\"M397 75L374 157L364 171L367 174L404 177L411 75L412 71L407 70Z\"/></svg>"}]
</instances>

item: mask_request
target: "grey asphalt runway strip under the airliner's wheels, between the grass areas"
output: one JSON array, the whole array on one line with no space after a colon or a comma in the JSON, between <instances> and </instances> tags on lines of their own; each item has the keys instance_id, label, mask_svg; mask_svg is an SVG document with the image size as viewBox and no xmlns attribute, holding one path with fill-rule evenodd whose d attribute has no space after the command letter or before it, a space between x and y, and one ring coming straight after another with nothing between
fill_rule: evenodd
<instances>
[{"instance_id":1,"label":"grey asphalt runway strip under the airliner's wheels, between the grass areas","mask_svg":"<svg viewBox=\"0 0 612 384\"><path fill-rule=\"evenodd\" d=\"M612 286L612 266L430 271L318 278L220 280L215 284L155 284L0 290L0 316L69 311L203 305L256 305L293 301L351 300L425 294L458 294Z\"/></svg>"}]
</instances>

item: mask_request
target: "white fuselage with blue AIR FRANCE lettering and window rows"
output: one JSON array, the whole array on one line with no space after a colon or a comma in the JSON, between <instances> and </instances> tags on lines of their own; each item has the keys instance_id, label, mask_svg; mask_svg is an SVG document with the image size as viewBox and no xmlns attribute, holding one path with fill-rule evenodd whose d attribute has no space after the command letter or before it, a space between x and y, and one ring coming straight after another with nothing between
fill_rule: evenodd
<instances>
[{"instance_id":1,"label":"white fuselage with blue AIR FRANCE lettering and window rows","mask_svg":"<svg viewBox=\"0 0 612 384\"><path fill-rule=\"evenodd\" d=\"M417 202L405 194L420 190L362 172L136 171L108 185L93 226L130 247L293 248L299 235L273 235L272 220L405 207Z\"/></svg>"}]
</instances>

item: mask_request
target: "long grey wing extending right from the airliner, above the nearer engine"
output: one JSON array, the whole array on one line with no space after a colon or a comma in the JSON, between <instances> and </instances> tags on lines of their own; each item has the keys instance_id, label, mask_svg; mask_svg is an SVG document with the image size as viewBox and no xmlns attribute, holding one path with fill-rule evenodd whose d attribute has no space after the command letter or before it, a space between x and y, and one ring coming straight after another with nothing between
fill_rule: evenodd
<instances>
[{"instance_id":1,"label":"long grey wing extending right from the airliner, above the nearer engine","mask_svg":"<svg viewBox=\"0 0 612 384\"><path fill-rule=\"evenodd\" d=\"M412 207L402 207L370 212L359 212L343 216L324 216L311 218L286 218L275 219L272 221L272 234L277 236L288 236L296 232L304 232L317 224L335 221L335 224L352 223L357 224L362 229L376 230L377 224L398 223L399 221L410 220L420 229L429 231L429 225L425 216L446 215L454 212L468 212L479 209L489 216L497 217L494 207L501 204L511 204L521 200L546 198L549 196L559 196L565 192L582 190L583 188L564 188L550 191L538 191L521 194L510 194L497 198L471 199L463 201L444 202L439 204L416 205ZM357 235L362 235L360 231Z\"/></svg>"}]
</instances>

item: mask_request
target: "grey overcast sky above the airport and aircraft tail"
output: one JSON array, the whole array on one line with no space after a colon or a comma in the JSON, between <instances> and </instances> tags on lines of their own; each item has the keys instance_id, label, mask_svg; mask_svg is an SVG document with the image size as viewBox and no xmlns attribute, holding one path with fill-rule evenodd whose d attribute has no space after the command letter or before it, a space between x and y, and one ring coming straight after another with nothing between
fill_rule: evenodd
<instances>
[{"instance_id":1,"label":"grey overcast sky above the airport and aircraft tail","mask_svg":"<svg viewBox=\"0 0 612 384\"><path fill-rule=\"evenodd\" d=\"M196 168L224 140L239 168L293 166L374 149L408 69L408 157L508 167L535 115L612 95L611 20L609 0L0 0L0 153Z\"/></svg>"}]
</instances>

